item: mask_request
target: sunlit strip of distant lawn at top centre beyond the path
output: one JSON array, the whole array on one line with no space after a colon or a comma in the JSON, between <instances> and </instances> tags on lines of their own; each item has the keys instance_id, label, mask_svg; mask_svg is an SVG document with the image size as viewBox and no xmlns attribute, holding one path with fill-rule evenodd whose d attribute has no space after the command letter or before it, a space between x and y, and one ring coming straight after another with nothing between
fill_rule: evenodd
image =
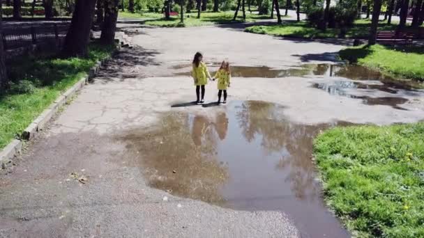
<instances>
[{"instance_id":1,"label":"sunlit strip of distant lawn at top centre beyond the path","mask_svg":"<svg viewBox=\"0 0 424 238\"><path fill-rule=\"evenodd\" d=\"M197 12L195 11L192 11L191 13L185 13L184 24L181 24L179 16L173 16L170 19L165 19L164 15L162 15L161 13L119 13L119 17L122 18L150 18L146 20L146 25L160 27L208 26L213 24L229 24L243 22L241 12L239 12L236 21L233 21L234 11L220 13L202 12L200 16L200 19L197 19ZM269 15L257 15L256 13L249 13L248 11L246 11L246 22L255 22L258 19L271 18Z\"/></svg>"}]
</instances>

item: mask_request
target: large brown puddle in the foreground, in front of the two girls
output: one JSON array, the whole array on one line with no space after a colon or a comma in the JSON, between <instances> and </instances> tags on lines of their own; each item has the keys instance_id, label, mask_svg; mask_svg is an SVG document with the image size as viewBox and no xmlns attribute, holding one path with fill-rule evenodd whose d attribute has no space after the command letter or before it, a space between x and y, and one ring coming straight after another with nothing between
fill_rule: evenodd
<instances>
[{"instance_id":1,"label":"large brown puddle in the foreground, in front of the two girls","mask_svg":"<svg viewBox=\"0 0 424 238\"><path fill-rule=\"evenodd\" d=\"M303 237L349 237L321 199L311 160L312 138L346 123L298 125L283 110L246 101L209 116L168 113L121 139L152 187L232 209L280 210Z\"/></svg>"}]
</instances>

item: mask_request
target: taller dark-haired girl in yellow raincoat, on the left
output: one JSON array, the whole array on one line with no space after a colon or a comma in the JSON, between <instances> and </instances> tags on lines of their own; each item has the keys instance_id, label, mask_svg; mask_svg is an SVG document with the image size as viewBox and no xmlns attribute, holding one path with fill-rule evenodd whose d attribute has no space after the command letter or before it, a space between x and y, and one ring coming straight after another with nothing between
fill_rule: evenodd
<instances>
[{"instance_id":1,"label":"taller dark-haired girl in yellow raincoat, on the left","mask_svg":"<svg viewBox=\"0 0 424 238\"><path fill-rule=\"evenodd\" d=\"M196 103L204 103L204 86L208 84L208 80L206 78L211 79L211 74L209 74L208 68L206 68L206 65L203 63L203 56L200 52L197 52L195 54L195 58L193 59L192 77L195 79L197 96ZM202 88L202 100L199 100L200 88Z\"/></svg>"}]
</instances>

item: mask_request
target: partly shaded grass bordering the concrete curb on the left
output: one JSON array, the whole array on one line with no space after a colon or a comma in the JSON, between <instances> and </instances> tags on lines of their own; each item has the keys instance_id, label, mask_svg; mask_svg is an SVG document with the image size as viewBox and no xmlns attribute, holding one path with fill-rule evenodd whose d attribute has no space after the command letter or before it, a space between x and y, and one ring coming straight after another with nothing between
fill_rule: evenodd
<instances>
[{"instance_id":1,"label":"partly shaded grass bordering the concrete curb on the left","mask_svg":"<svg viewBox=\"0 0 424 238\"><path fill-rule=\"evenodd\" d=\"M90 45L88 58L31 58L8 62L13 83L0 95L0 150L22 131L59 93L75 84L91 67L112 53L112 47Z\"/></svg>"}]
</instances>

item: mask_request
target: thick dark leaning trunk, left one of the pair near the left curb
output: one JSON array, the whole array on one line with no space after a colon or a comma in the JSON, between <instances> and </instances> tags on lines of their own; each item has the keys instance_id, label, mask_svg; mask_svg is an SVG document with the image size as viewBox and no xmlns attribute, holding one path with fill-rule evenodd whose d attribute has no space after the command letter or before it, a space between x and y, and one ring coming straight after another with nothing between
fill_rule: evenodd
<instances>
[{"instance_id":1,"label":"thick dark leaning trunk, left one of the pair near the left curb","mask_svg":"<svg viewBox=\"0 0 424 238\"><path fill-rule=\"evenodd\" d=\"M63 56L87 56L95 6L96 0L75 0L75 10L63 45Z\"/></svg>"}]
</instances>

